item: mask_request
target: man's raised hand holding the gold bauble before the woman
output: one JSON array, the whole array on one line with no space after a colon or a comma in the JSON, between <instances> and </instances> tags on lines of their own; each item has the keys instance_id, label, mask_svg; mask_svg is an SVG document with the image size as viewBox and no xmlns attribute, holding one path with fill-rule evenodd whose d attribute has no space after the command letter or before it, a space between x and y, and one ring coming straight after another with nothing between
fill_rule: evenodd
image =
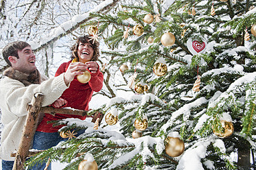
<instances>
[{"instance_id":1,"label":"man's raised hand holding the gold bauble before the woman","mask_svg":"<svg viewBox=\"0 0 256 170\"><path fill-rule=\"evenodd\" d=\"M65 84L69 84L75 75L82 75L83 71L88 69L87 64L82 62L71 62L64 75Z\"/></svg>"}]
</instances>

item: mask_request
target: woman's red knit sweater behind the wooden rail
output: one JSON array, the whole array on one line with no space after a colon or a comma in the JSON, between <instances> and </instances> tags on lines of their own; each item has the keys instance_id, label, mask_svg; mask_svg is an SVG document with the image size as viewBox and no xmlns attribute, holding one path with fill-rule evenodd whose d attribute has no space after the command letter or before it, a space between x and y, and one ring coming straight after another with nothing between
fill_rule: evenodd
<instances>
[{"instance_id":1,"label":"woman's red knit sweater behind the wooden rail","mask_svg":"<svg viewBox=\"0 0 256 170\"><path fill-rule=\"evenodd\" d=\"M55 77L67 71L69 66L69 62L64 62L60 65L58 70L56 71ZM91 73L91 72L90 72ZM71 82L69 88L62 93L61 98L67 100L67 106L75 109L80 110L89 110L89 101L91 101L91 97L93 95L93 91L97 92L102 89L103 86L103 74L100 70L97 70L97 73L91 73L91 80L86 83L82 84L78 82L76 77ZM69 114L55 114L55 117L51 114L45 114L43 120L38 125L36 131L40 132L58 132L60 127L63 125L58 125L56 127L52 127L53 123L47 123L47 121L54 121L60 119L67 119L67 118L79 118L79 119L86 119L86 116L78 116L78 115L69 115Z\"/></svg>"}]
</instances>

